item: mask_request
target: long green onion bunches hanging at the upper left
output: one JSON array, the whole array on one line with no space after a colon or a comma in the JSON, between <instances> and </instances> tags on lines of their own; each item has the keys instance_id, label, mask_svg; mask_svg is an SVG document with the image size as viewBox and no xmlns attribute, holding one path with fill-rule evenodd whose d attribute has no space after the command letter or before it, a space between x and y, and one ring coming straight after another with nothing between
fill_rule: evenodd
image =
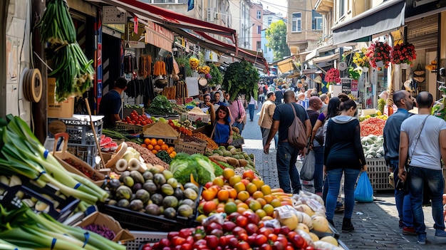
<instances>
[{"instance_id":1,"label":"long green onion bunches hanging at the upper left","mask_svg":"<svg viewBox=\"0 0 446 250\"><path fill-rule=\"evenodd\" d=\"M56 102L83 95L93 83L95 70L93 60L87 59L76 41L76 29L67 2L47 1L37 26L41 41L51 44L47 57L53 59L55 68L48 76L56 78Z\"/></svg>"}]
</instances>

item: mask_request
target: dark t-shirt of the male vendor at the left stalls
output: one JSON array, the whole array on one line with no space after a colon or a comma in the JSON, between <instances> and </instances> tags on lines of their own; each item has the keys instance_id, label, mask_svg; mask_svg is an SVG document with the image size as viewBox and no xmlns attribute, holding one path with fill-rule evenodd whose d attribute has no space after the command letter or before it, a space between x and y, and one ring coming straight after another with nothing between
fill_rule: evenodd
<instances>
[{"instance_id":1,"label":"dark t-shirt of the male vendor at the left stalls","mask_svg":"<svg viewBox=\"0 0 446 250\"><path fill-rule=\"evenodd\" d=\"M118 114L121 108L121 95L116 90L108 91L99 104L99 115L104 115L103 127L115 127L112 116Z\"/></svg>"}]
</instances>

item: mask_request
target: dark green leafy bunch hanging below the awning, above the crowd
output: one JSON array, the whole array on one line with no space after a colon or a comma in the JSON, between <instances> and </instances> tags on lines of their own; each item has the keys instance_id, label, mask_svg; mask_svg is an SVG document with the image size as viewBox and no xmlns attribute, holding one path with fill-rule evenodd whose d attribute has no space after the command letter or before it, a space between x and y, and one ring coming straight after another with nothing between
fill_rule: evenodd
<instances>
[{"instance_id":1,"label":"dark green leafy bunch hanging below the awning, above the crowd","mask_svg":"<svg viewBox=\"0 0 446 250\"><path fill-rule=\"evenodd\" d=\"M247 101L251 96L257 100L259 89L259 72L257 68L245 60L231 63L224 73L222 88L231 95L230 100L235 100L239 95L245 95Z\"/></svg>"}]
</instances>

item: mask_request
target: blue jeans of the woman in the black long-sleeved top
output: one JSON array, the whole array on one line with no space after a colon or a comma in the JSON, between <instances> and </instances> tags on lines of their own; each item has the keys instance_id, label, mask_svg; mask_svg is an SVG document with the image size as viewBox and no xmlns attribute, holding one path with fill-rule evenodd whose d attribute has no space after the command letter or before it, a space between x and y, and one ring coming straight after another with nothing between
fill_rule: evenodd
<instances>
[{"instance_id":1,"label":"blue jeans of the woman in the black long-sleeved top","mask_svg":"<svg viewBox=\"0 0 446 250\"><path fill-rule=\"evenodd\" d=\"M338 199L339 187L341 187L342 173L344 173L344 194L346 196L344 218L351 219L353 207L355 207L355 184L360 170L350 168L337 168L328 171L328 194L326 202L327 219L333 219L336 209L336 200Z\"/></svg>"}]
</instances>

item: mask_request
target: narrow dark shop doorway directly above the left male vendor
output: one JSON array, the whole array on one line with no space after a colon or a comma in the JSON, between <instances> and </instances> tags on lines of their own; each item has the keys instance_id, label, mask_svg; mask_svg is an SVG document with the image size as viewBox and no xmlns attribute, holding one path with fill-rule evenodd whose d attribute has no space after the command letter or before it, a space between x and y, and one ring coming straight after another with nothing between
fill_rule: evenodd
<instances>
[{"instance_id":1,"label":"narrow dark shop doorway directly above the left male vendor","mask_svg":"<svg viewBox=\"0 0 446 250\"><path fill-rule=\"evenodd\" d=\"M103 92L102 95L113 88L113 82L120 77L121 65L121 40L114 36L103 33L102 39L103 58Z\"/></svg>"}]
</instances>

